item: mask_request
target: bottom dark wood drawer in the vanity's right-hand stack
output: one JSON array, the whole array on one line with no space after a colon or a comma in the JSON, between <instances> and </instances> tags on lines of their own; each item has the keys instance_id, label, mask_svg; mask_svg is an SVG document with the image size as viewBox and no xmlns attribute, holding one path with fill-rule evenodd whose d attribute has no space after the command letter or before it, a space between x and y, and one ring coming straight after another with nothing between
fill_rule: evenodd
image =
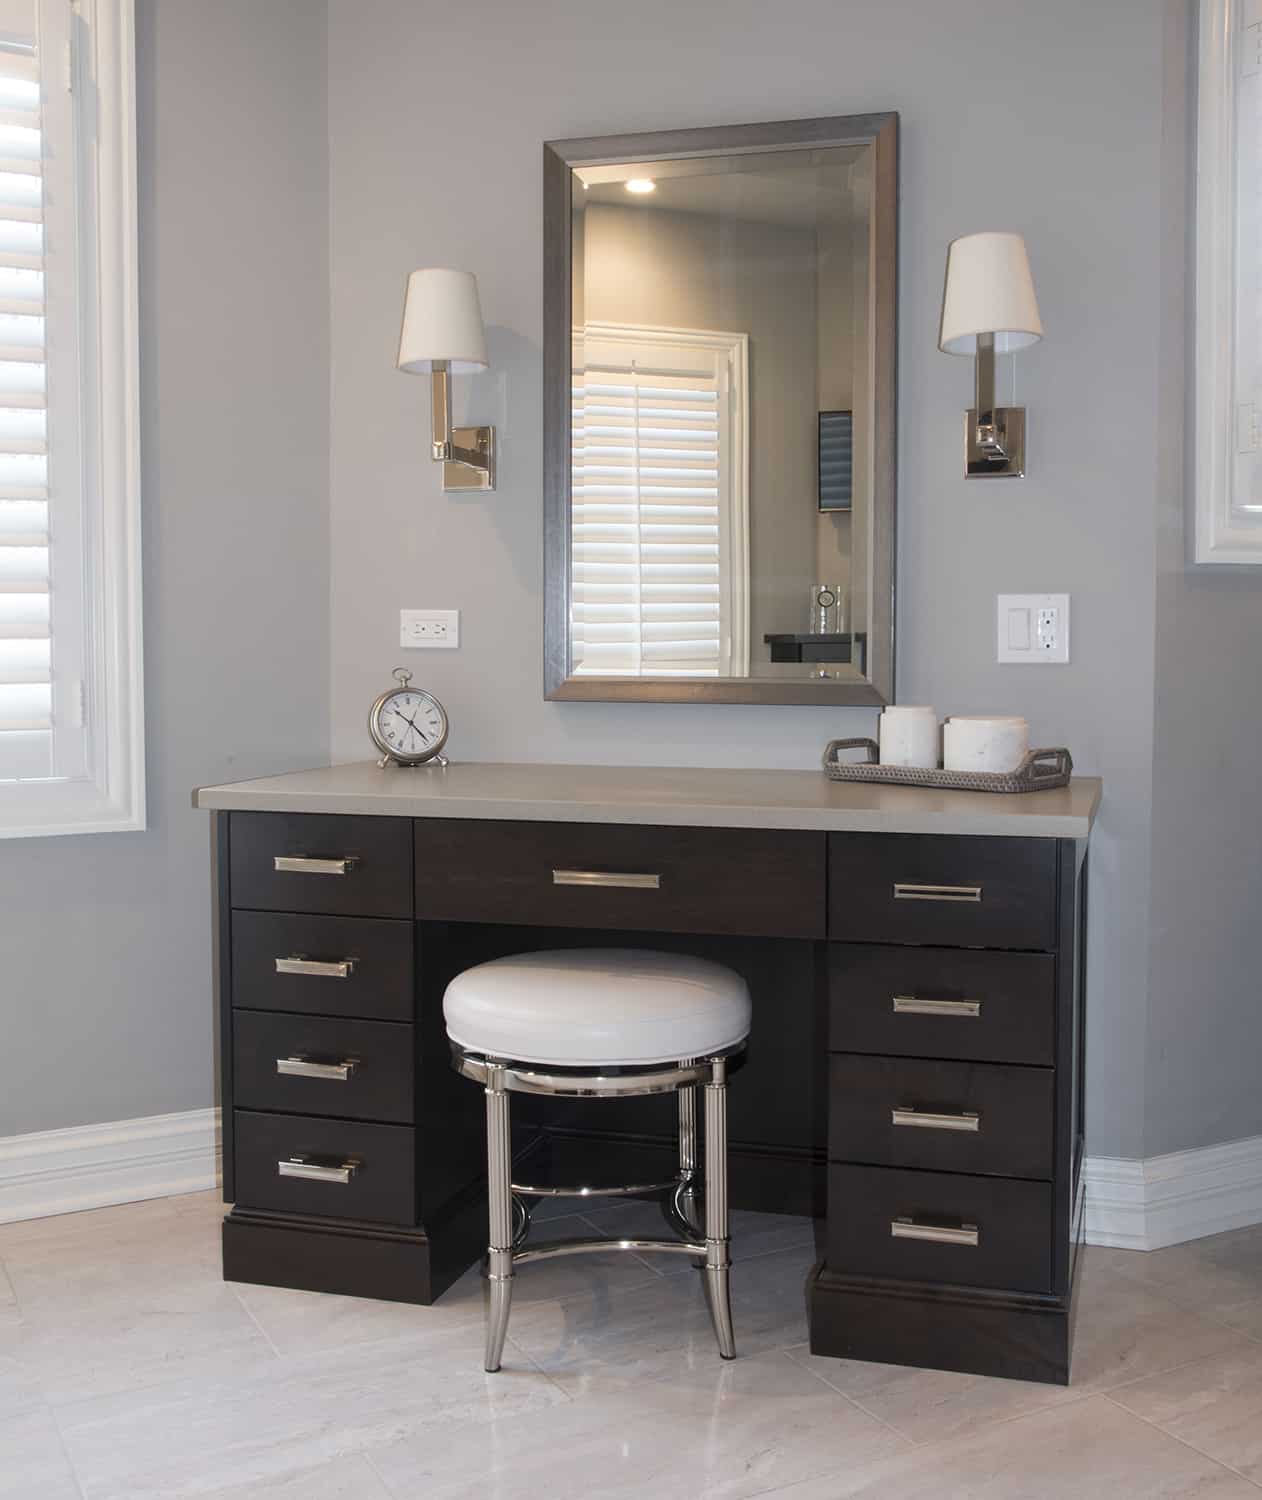
<instances>
[{"instance_id":1,"label":"bottom dark wood drawer in the vanity's right-hand stack","mask_svg":"<svg viewBox=\"0 0 1262 1500\"><path fill-rule=\"evenodd\" d=\"M1005 1292L1052 1290L1052 1185L828 1167L828 1269Z\"/></svg>"}]
</instances>

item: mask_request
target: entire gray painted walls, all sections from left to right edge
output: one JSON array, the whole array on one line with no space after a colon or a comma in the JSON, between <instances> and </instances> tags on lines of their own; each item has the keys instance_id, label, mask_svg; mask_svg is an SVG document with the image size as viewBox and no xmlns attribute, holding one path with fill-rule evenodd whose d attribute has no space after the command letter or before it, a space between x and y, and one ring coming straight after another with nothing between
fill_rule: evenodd
<instances>
[{"instance_id":1,"label":"entire gray painted walls, all sections from left to right edge","mask_svg":"<svg viewBox=\"0 0 1262 1500\"><path fill-rule=\"evenodd\" d=\"M1020 710L1106 777L1091 1150L1262 1131L1262 873L1242 813L1262 578L1182 561L1188 9L330 0L326 38L320 0L140 0L152 826L0 844L0 1134L210 1102L189 789L363 758L404 604L462 610L461 651L411 663L459 756L812 766L872 724L543 702L539 142L887 108L903 120L900 694ZM984 92L960 87L978 76ZM971 372L935 348L947 240L984 226L1026 232L1047 327L1017 369L1016 486L960 480ZM482 282L494 368L456 400L500 428L492 496L441 494L426 387L392 369L423 262ZM1110 424L1083 420L1101 410ZM1070 666L992 662L999 590L1073 596Z\"/></svg>"}]
</instances>

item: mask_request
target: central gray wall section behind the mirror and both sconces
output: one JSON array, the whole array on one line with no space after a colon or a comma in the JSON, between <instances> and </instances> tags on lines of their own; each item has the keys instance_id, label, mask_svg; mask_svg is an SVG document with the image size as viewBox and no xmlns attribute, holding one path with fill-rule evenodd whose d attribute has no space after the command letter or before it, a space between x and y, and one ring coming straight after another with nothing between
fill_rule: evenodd
<instances>
[{"instance_id":1,"label":"central gray wall section behind the mirror and both sconces","mask_svg":"<svg viewBox=\"0 0 1262 1500\"><path fill-rule=\"evenodd\" d=\"M405 604L462 610L459 651L410 662L452 712L456 756L813 766L831 735L870 730L863 711L543 702L540 141L899 110L900 693L1025 712L1037 740L1106 777L1091 1148L1139 1155L1161 6L330 0L329 14L335 758L368 752L363 716ZM1022 484L960 478L971 369L935 346L947 242L978 228L1028 236L1047 327L1017 372ZM422 264L480 280L492 369L458 380L456 402L498 424L489 496L441 494L425 386L392 368L404 278ZM1109 423L1085 420L1103 410ZM1041 590L1073 596L1076 660L996 666L995 594Z\"/></svg>"}]
</instances>

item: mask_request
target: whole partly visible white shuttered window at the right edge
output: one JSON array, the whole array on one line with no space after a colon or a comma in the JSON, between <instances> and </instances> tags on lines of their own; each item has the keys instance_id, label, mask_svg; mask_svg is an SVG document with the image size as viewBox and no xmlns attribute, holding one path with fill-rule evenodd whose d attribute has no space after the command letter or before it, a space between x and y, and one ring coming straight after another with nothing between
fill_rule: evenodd
<instances>
[{"instance_id":1,"label":"whole partly visible white shuttered window at the right edge","mask_svg":"<svg viewBox=\"0 0 1262 1500\"><path fill-rule=\"evenodd\" d=\"M1262 562L1262 0L1200 0L1197 562Z\"/></svg>"}]
</instances>

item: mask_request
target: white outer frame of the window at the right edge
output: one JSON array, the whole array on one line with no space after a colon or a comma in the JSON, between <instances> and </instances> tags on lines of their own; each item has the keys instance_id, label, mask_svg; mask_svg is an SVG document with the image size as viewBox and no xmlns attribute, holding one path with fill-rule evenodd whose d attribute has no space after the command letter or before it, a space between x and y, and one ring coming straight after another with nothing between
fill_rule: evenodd
<instances>
[{"instance_id":1,"label":"white outer frame of the window at the right edge","mask_svg":"<svg viewBox=\"0 0 1262 1500\"><path fill-rule=\"evenodd\" d=\"M1250 0L1200 0L1196 123L1197 564L1262 564L1262 513L1233 504L1244 418L1236 410L1236 80ZM1256 0L1253 0L1256 3ZM1262 448L1262 412L1247 426ZM1262 462L1259 454L1257 462Z\"/></svg>"}]
</instances>

